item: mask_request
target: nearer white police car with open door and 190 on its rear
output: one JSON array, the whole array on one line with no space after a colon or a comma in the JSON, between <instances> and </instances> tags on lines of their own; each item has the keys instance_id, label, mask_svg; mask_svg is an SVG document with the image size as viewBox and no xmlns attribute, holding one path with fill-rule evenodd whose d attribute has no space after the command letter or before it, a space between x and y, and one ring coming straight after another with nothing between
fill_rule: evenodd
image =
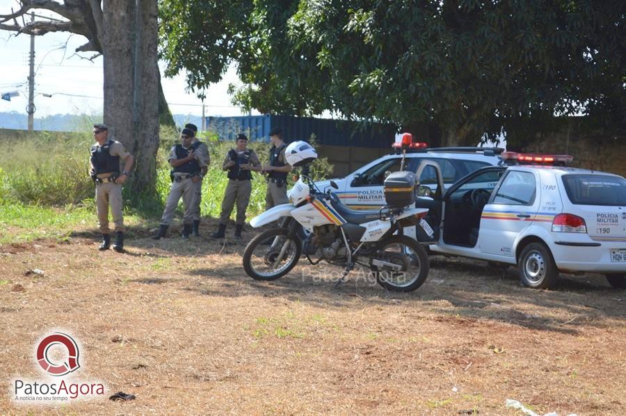
<instances>
[{"instance_id":1,"label":"nearer white police car with open door and 190 on its rear","mask_svg":"<svg viewBox=\"0 0 626 416\"><path fill-rule=\"evenodd\" d=\"M626 179L565 167L566 155L501 156L515 164L481 168L418 198L430 208L431 251L517 264L533 288L551 287L559 271L602 273L626 287ZM440 174L438 182L443 189Z\"/></svg>"}]
</instances>

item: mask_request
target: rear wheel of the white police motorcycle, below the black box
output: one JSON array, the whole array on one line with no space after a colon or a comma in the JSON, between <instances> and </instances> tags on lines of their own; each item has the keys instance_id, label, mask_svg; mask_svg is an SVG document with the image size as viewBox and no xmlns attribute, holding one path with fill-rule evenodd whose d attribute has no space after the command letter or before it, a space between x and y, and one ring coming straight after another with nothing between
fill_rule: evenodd
<instances>
[{"instance_id":1,"label":"rear wheel of the white police motorcycle, below the black box","mask_svg":"<svg viewBox=\"0 0 626 416\"><path fill-rule=\"evenodd\" d=\"M428 277L428 254L414 239L394 235L380 241L370 259L376 281L391 291L413 291Z\"/></svg>"}]
</instances>

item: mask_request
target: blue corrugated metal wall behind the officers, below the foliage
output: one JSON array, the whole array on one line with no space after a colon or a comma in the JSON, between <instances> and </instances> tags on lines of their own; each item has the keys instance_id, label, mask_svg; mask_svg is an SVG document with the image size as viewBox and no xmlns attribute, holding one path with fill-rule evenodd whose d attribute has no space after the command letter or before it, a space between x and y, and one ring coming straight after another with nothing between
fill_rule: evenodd
<instances>
[{"instance_id":1,"label":"blue corrugated metal wall behind the officers, below the foliage","mask_svg":"<svg viewBox=\"0 0 626 416\"><path fill-rule=\"evenodd\" d=\"M207 117L207 126L216 131L220 140L232 140L236 134L248 134L250 140L269 140L271 129L282 129L287 143L308 140L315 134L321 145L389 148L396 127L371 125L363 128L356 123L324 118L292 117L289 115L245 115L239 117Z\"/></svg>"}]
</instances>

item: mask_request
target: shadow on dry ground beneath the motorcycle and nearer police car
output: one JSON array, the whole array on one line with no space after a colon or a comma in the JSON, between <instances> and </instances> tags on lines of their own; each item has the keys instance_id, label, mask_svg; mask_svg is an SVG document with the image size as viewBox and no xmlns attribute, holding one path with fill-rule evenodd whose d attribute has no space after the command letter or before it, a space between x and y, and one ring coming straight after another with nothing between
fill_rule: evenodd
<instances>
[{"instance_id":1,"label":"shadow on dry ground beneath the motorcycle and nearer police car","mask_svg":"<svg viewBox=\"0 0 626 416\"><path fill-rule=\"evenodd\" d=\"M310 266L300 259L289 275L262 282L243 273L239 262L231 262L192 269L191 275L203 279L185 289L225 297L261 292L268 298L334 308L351 306L355 300L369 306L402 304L415 307L418 312L420 305L428 305L428 309L454 319L499 321L569 334L576 334L577 327L582 325L606 326L606 317L626 318L625 292L608 287L600 275L562 275L558 289L535 290L520 285L514 268L492 268L485 262L433 257L426 283L417 291L402 294L386 291L375 280L364 277L367 273L353 272L335 288L333 282L341 271L332 266Z\"/></svg>"}]
</instances>

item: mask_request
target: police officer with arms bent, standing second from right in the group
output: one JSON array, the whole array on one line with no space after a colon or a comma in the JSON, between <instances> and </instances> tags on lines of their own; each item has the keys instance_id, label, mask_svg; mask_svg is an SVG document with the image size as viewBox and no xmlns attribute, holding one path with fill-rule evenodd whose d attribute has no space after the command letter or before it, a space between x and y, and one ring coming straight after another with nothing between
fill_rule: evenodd
<instances>
[{"instance_id":1,"label":"police officer with arms bent, standing second from right in the group","mask_svg":"<svg viewBox=\"0 0 626 416\"><path fill-rule=\"evenodd\" d=\"M252 170L259 172L261 163L254 150L248 149L248 137L240 133L236 137L236 149L231 149L226 154L226 159L222 163L222 170L228 171L228 184L224 199L222 200L222 212L220 214L220 225L211 237L223 239L226 231L226 224L230 218L232 207L237 205L237 217L235 221L235 238L241 239L243 223L246 222L246 209L250 202L250 192L252 192Z\"/></svg>"}]
</instances>

